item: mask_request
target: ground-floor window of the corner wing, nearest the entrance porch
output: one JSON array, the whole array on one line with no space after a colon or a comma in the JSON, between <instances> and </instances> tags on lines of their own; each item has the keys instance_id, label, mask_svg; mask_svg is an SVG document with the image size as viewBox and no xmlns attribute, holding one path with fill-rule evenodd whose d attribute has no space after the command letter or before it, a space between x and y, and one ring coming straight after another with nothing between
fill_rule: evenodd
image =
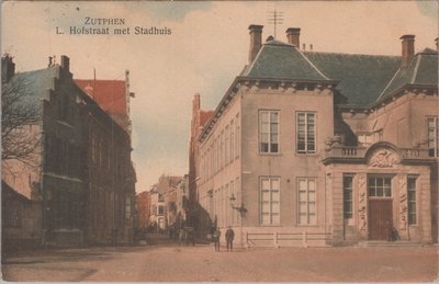
<instances>
[{"instance_id":1,"label":"ground-floor window of the corner wing, nearest the entrance porch","mask_svg":"<svg viewBox=\"0 0 439 284\"><path fill-rule=\"evenodd\" d=\"M316 224L316 180L299 179L299 224Z\"/></svg>"}]
</instances>

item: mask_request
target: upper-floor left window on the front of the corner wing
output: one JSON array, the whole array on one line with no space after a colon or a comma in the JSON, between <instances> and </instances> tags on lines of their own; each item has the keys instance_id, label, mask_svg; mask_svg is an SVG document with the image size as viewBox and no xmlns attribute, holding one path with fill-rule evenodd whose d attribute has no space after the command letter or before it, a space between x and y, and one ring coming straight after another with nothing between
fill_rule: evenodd
<instances>
[{"instance_id":1,"label":"upper-floor left window on the front of the corner wing","mask_svg":"<svg viewBox=\"0 0 439 284\"><path fill-rule=\"evenodd\" d=\"M279 151L279 112L259 112L259 151Z\"/></svg>"}]
</instances>

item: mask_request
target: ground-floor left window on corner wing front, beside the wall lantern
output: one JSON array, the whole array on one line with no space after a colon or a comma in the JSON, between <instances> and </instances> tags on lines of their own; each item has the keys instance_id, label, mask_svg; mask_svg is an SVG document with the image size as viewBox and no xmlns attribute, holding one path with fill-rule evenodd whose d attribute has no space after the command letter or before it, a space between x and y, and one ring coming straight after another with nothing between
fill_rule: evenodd
<instances>
[{"instance_id":1,"label":"ground-floor left window on corner wing front, beside the wall lantern","mask_svg":"<svg viewBox=\"0 0 439 284\"><path fill-rule=\"evenodd\" d=\"M277 225L280 223L280 179L263 178L260 180L260 223Z\"/></svg>"}]
</instances>

